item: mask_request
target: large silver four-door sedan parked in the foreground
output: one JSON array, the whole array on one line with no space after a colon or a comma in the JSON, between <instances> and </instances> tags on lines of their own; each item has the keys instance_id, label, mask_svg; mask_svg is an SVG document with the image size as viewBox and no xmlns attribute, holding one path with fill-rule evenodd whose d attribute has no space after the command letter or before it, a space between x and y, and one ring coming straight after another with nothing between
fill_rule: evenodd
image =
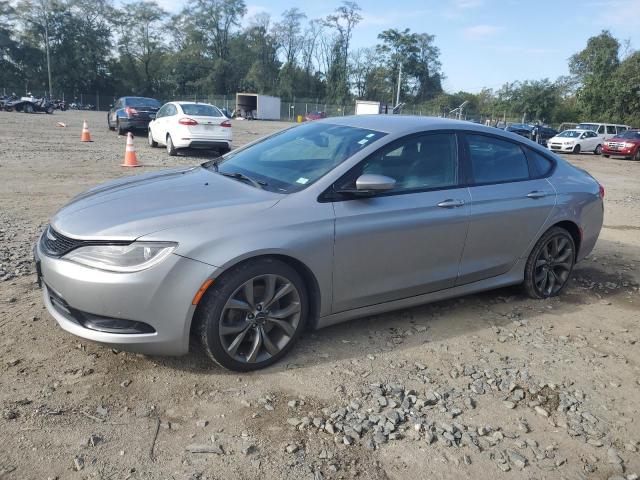
<instances>
[{"instance_id":1,"label":"large silver four-door sedan parked in the foreground","mask_svg":"<svg viewBox=\"0 0 640 480\"><path fill-rule=\"evenodd\" d=\"M507 285L558 295L594 248L603 197L491 127L334 117L81 194L40 237L36 271L72 334L173 355L192 333L248 371L307 327Z\"/></svg>"}]
</instances>

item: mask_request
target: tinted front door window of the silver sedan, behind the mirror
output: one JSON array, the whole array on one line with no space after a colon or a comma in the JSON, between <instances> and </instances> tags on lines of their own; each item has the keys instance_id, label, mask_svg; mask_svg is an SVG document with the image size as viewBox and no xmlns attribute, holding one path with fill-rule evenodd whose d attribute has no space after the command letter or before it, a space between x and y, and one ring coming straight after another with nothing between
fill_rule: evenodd
<instances>
[{"instance_id":1,"label":"tinted front door window of the silver sedan, behind the mirror","mask_svg":"<svg viewBox=\"0 0 640 480\"><path fill-rule=\"evenodd\" d=\"M458 183L456 145L448 133L402 139L364 160L349 180L355 182L363 173L385 175L396 181L394 192L451 187Z\"/></svg>"}]
</instances>

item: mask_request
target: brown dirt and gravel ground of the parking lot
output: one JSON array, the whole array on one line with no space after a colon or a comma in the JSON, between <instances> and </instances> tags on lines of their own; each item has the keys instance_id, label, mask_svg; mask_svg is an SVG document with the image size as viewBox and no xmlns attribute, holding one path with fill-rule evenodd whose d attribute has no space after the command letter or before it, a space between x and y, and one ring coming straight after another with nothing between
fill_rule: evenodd
<instances>
[{"instance_id":1,"label":"brown dirt and gravel ground of the parking lot","mask_svg":"<svg viewBox=\"0 0 640 480\"><path fill-rule=\"evenodd\" d=\"M31 248L61 205L203 161L141 135L144 167L121 168L105 116L0 112L0 479L637 478L639 162L568 157L605 186L606 214L559 298L510 288L364 318L239 375L195 346L88 343L44 310ZM234 121L235 144L285 125ZM362 422L384 435L360 438Z\"/></svg>"}]
</instances>

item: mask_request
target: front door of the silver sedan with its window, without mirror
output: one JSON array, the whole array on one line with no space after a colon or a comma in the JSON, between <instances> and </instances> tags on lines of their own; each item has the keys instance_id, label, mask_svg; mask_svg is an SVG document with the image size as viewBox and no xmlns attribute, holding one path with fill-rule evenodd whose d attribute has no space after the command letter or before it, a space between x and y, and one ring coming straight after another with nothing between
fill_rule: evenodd
<instances>
[{"instance_id":1,"label":"front door of the silver sedan with its window, without mirror","mask_svg":"<svg viewBox=\"0 0 640 480\"><path fill-rule=\"evenodd\" d=\"M363 160L363 173L396 180L390 192L334 202L333 312L452 287L464 247L469 191L459 187L453 133L412 135Z\"/></svg>"}]
</instances>

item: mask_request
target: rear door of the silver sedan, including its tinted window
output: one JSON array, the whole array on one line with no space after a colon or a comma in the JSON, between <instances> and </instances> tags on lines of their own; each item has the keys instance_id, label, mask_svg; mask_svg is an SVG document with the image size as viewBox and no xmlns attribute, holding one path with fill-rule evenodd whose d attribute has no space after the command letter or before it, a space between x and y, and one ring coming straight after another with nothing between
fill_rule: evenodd
<instances>
[{"instance_id":1,"label":"rear door of the silver sedan, including its tinted window","mask_svg":"<svg viewBox=\"0 0 640 480\"><path fill-rule=\"evenodd\" d=\"M551 160L504 138L464 138L471 210L458 285L508 272L538 237L556 201L544 178ZM536 159L547 168L535 167Z\"/></svg>"}]
</instances>

